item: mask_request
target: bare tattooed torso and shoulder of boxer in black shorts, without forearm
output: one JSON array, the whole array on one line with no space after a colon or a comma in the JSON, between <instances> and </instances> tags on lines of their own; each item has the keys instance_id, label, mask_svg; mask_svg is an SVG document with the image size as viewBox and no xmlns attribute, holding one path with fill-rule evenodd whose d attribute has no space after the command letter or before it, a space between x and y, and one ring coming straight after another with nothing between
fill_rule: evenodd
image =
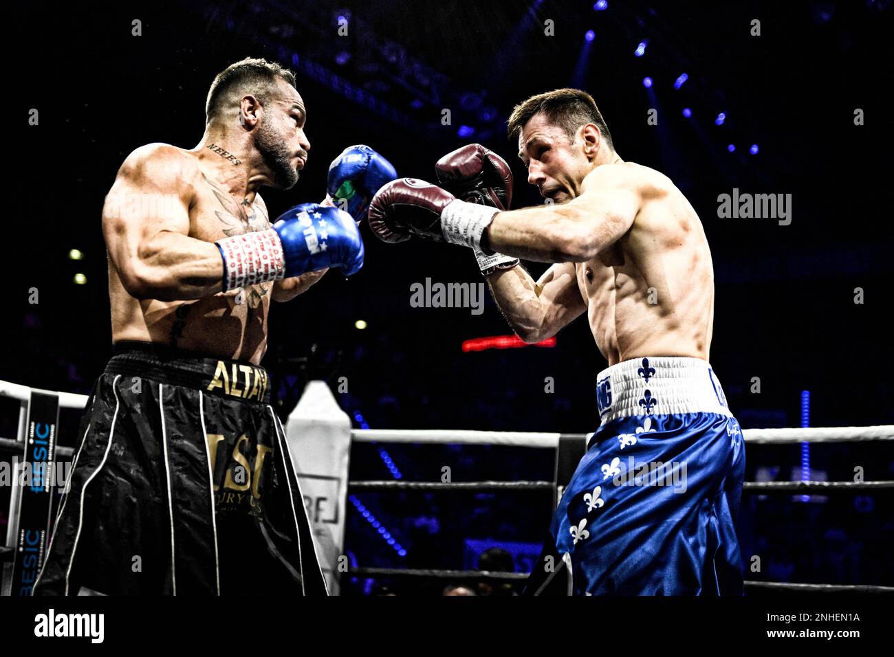
<instances>
[{"instance_id":1,"label":"bare tattooed torso and shoulder of boxer in black shorts, without forearm","mask_svg":"<svg viewBox=\"0 0 894 657\"><path fill-rule=\"evenodd\" d=\"M160 169L164 176L157 174ZM128 247L137 240L135 234L145 240L161 231L180 232L210 245L215 240L270 227L266 205L259 194L250 205L242 203L213 180L213 175L196 151L164 144L135 151L122 165L106 197L103 226L109 250L118 249L119 262L125 263L136 259L128 257L129 251L145 248ZM139 200L131 202L132 198L142 198L142 206ZM122 207L130 207L130 218L122 220ZM158 207L164 207L164 212L158 212ZM162 214L164 221L156 219L156 215ZM172 219L172 215L176 218ZM177 265L175 248L166 257L171 258L172 266ZM209 250L208 258L214 260L213 250ZM284 294L286 287L283 281L277 281L244 290L209 293L198 299L182 300L196 294L176 300L147 299L127 291L111 254L108 274L113 342L148 341L256 365L266 351L270 302L277 292ZM319 275L322 273L288 279L286 282L292 285L287 296L293 296L299 280Z\"/></svg>"}]
</instances>

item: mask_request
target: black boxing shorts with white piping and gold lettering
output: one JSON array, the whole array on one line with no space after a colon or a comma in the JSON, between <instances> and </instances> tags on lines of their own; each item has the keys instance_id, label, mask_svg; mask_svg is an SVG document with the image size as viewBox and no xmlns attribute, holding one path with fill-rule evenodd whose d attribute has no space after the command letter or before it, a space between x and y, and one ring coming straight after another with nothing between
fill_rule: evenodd
<instances>
[{"instance_id":1,"label":"black boxing shorts with white piping and gold lettering","mask_svg":"<svg viewBox=\"0 0 894 657\"><path fill-rule=\"evenodd\" d=\"M326 595L263 367L119 342L35 595Z\"/></svg>"}]
</instances>

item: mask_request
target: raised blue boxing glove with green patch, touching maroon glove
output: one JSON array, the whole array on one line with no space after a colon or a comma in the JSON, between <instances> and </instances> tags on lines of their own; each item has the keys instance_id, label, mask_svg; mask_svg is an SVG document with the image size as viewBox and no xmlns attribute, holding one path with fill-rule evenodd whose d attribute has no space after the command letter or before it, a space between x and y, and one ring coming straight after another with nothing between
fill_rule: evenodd
<instances>
[{"instance_id":1,"label":"raised blue boxing glove with green patch, touching maroon glove","mask_svg":"<svg viewBox=\"0 0 894 657\"><path fill-rule=\"evenodd\" d=\"M329 165L326 191L336 206L359 222L367 214L375 192L395 178L397 172L388 160L360 144L345 148Z\"/></svg>"}]
</instances>

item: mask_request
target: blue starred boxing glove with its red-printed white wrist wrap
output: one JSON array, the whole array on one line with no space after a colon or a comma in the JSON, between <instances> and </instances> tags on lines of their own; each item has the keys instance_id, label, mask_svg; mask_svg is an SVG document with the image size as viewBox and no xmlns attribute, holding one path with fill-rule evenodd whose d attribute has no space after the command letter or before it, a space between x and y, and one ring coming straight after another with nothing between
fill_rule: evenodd
<instances>
[{"instance_id":1,"label":"blue starred boxing glove with its red-printed white wrist wrap","mask_svg":"<svg viewBox=\"0 0 894 657\"><path fill-rule=\"evenodd\" d=\"M223 257L223 290L338 267L346 276L363 266L357 223L337 207L302 203L266 231L215 242Z\"/></svg>"}]
</instances>

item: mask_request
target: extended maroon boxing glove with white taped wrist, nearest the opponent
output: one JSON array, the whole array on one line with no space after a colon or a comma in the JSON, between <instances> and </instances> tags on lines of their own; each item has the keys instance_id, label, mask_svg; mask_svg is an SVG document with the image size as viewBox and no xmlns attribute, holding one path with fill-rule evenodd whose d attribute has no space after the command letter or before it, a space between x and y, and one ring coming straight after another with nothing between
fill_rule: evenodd
<instances>
[{"instance_id":1,"label":"extended maroon boxing glove with white taped wrist, nearest the opponent","mask_svg":"<svg viewBox=\"0 0 894 657\"><path fill-rule=\"evenodd\" d=\"M412 235L481 248L481 235L499 210L454 197L430 182L416 178L391 181L369 204L369 227L380 240L392 244Z\"/></svg>"}]
</instances>

